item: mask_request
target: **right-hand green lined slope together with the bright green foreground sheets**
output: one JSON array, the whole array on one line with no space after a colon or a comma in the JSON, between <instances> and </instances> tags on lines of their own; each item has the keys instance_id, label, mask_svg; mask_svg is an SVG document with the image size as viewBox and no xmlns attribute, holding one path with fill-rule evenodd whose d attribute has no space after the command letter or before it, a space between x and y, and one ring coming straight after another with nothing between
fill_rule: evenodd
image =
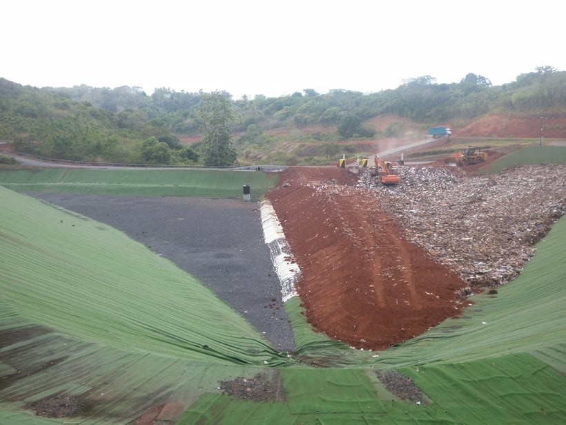
<instances>
[{"instance_id":1,"label":"right-hand green lined slope together with the bright green foreground sheets","mask_svg":"<svg viewBox=\"0 0 566 425\"><path fill-rule=\"evenodd\" d=\"M566 417L566 220L498 294L474 296L464 317L384 352L348 350L314 334L286 303L297 357L281 370L285 402L206 394L180 424L557 424ZM355 362L362 370L355 368ZM320 368L340 366L340 368ZM348 369L349 368L349 369ZM374 372L396 368L429 404L396 399Z\"/></svg>"}]
</instances>

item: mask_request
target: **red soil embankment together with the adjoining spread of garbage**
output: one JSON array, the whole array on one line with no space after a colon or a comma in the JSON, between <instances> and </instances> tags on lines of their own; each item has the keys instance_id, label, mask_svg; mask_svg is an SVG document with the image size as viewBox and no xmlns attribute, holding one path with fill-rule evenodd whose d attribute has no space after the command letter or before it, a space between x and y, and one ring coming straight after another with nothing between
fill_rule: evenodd
<instances>
[{"instance_id":1,"label":"red soil embankment together with the adjoining spread of garbage","mask_svg":"<svg viewBox=\"0 0 566 425\"><path fill-rule=\"evenodd\" d=\"M458 316L474 293L496 293L523 270L564 214L566 166L495 176L466 168L398 167L393 187L371 169L286 171L269 199L318 330L357 348L387 348Z\"/></svg>"}]
</instances>

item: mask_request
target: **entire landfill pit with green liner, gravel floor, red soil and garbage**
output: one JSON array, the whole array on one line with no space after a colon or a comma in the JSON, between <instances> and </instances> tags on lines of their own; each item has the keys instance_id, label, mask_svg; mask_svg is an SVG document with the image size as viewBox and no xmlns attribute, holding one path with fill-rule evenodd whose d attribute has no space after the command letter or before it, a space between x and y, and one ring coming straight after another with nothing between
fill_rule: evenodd
<instances>
[{"instance_id":1,"label":"entire landfill pit with green liner, gravel floor, red soil and garbage","mask_svg":"<svg viewBox=\"0 0 566 425\"><path fill-rule=\"evenodd\" d=\"M488 155L0 171L0 422L560 423L566 164Z\"/></svg>"}]
</instances>

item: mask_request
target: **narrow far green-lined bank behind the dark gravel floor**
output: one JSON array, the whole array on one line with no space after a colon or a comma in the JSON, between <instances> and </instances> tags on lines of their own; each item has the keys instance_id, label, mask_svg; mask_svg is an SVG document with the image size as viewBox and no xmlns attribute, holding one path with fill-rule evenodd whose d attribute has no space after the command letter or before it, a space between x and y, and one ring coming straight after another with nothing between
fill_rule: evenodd
<instances>
[{"instance_id":1,"label":"narrow far green-lined bank behind the dark gravel floor","mask_svg":"<svg viewBox=\"0 0 566 425\"><path fill-rule=\"evenodd\" d=\"M26 193L110 196L199 196L261 198L275 186L277 173L219 169L34 169L0 170L0 184Z\"/></svg>"}]
</instances>

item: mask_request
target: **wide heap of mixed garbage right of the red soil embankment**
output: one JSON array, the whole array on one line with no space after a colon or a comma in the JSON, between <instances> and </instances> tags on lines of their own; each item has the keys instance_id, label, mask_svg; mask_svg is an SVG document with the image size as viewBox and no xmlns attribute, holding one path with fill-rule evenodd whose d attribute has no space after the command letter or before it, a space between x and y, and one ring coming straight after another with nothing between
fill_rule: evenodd
<instances>
[{"instance_id":1,"label":"wide heap of mixed garbage right of the red soil embankment","mask_svg":"<svg viewBox=\"0 0 566 425\"><path fill-rule=\"evenodd\" d=\"M461 168L399 167L401 183L385 187L360 173L382 210L408 240L471 287L515 278L566 208L566 165L511 167L470 176Z\"/></svg>"}]
</instances>

